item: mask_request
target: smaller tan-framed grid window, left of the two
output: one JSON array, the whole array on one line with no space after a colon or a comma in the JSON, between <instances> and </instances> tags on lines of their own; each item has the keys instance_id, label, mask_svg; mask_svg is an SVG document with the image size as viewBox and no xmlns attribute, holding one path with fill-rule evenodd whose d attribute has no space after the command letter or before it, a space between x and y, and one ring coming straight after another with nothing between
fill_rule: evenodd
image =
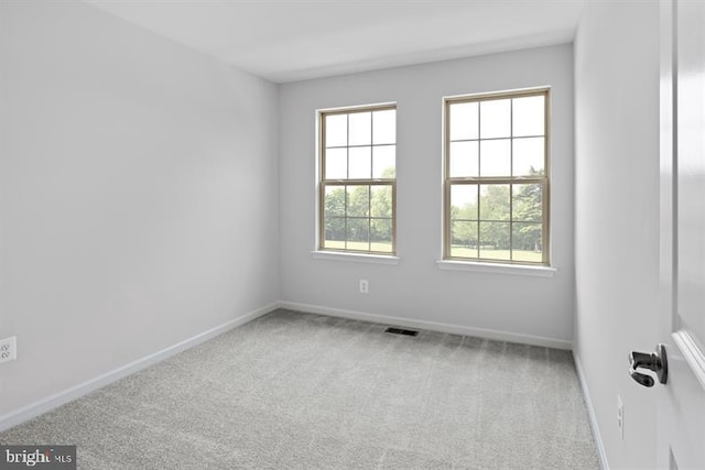
<instances>
[{"instance_id":1,"label":"smaller tan-framed grid window, left of the two","mask_svg":"<svg viewBox=\"0 0 705 470\"><path fill-rule=\"evenodd\" d=\"M397 108L319 113L318 249L393 254Z\"/></svg>"}]
</instances>

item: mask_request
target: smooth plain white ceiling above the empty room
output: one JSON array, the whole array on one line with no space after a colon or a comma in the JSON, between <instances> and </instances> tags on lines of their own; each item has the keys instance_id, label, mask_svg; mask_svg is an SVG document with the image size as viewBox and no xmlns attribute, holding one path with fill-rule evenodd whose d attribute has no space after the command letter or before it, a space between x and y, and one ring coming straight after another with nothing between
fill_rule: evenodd
<instances>
[{"instance_id":1,"label":"smooth plain white ceiling above the empty room","mask_svg":"<svg viewBox=\"0 0 705 470\"><path fill-rule=\"evenodd\" d=\"M86 0L275 83L570 43L583 0Z\"/></svg>"}]
</instances>

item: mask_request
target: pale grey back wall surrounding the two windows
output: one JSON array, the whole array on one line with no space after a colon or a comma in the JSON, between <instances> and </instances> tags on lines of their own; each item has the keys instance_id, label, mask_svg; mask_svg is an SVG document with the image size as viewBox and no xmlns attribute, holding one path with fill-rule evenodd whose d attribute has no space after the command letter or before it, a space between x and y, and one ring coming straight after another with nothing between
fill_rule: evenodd
<instances>
[{"instance_id":1,"label":"pale grey back wall surrounding the two windows","mask_svg":"<svg viewBox=\"0 0 705 470\"><path fill-rule=\"evenodd\" d=\"M553 278L440 271L442 98L551 85ZM399 265L312 258L315 111L395 101ZM324 78L280 89L282 298L409 320L544 337L573 336L573 53L571 45ZM370 281L369 295L358 280Z\"/></svg>"}]
</instances>

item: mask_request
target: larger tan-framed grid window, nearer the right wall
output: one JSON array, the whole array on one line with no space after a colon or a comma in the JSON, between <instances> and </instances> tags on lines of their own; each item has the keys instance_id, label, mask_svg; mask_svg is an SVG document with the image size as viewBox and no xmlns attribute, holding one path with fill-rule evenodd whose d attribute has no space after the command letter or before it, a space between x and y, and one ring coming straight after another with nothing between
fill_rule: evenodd
<instances>
[{"instance_id":1,"label":"larger tan-framed grid window, nearer the right wall","mask_svg":"<svg viewBox=\"0 0 705 470\"><path fill-rule=\"evenodd\" d=\"M549 89L445 99L444 259L549 264Z\"/></svg>"}]
</instances>

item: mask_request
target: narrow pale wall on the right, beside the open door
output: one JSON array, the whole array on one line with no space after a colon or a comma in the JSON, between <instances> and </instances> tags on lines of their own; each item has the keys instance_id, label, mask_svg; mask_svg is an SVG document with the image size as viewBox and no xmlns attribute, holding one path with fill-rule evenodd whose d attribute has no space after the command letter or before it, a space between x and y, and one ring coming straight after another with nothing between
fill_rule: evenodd
<instances>
[{"instance_id":1,"label":"narrow pale wall on the right, beside the open door","mask_svg":"<svg viewBox=\"0 0 705 470\"><path fill-rule=\"evenodd\" d=\"M575 353L612 469L655 464L658 391L628 376L627 354L658 342L658 13L587 2L575 42Z\"/></svg>"}]
</instances>

